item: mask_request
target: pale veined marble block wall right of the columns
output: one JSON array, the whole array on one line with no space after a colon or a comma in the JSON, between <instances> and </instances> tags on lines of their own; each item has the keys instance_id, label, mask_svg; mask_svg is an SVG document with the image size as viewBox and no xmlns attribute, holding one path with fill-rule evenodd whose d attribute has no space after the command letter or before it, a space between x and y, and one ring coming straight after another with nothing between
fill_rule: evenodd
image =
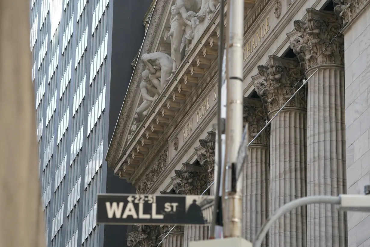
<instances>
[{"instance_id":1,"label":"pale veined marble block wall right of the columns","mask_svg":"<svg viewBox=\"0 0 370 247\"><path fill-rule=\"evenodd\" d=\"M370 184L370 4L344 31L347 193ZM348 212L348 246L370 246L370 214Z\"/></svg>"}]
</instances>

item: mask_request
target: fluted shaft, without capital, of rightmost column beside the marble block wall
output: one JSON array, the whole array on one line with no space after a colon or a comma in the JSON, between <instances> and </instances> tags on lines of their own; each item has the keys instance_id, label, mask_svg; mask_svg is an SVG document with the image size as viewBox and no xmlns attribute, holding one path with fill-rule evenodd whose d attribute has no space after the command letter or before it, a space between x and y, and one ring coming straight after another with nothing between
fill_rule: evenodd
<instances>
[{"instance_id":1,"label":"fluted shaft, without capital, of rightmost column beside the marble block wall","mask_svg":"<svg viewBox=\"0 0 370 247\"><path fill-rule=\"evenodd\" d=\"M307 76L315 70L307 71ZM307 196L346 193L343 66L320 66L308 84L307 108ZM343 211L311 204L307 213L307 246L346 246Z\"/></svg>"}]
</instances>

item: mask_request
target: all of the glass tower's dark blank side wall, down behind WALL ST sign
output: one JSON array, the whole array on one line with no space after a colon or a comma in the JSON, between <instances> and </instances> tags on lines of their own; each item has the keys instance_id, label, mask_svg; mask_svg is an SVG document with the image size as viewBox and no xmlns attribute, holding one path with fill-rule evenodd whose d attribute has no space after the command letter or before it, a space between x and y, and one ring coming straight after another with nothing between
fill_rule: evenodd
<instances>
[{"instance_id":1,"label":"all of the glass tower's dark blank side wall, down behind WALL ST sign","mask_svg":"<svg viewBox=\"0 0 370 247\"><path fill-rule=\"evenodd\" d=\"M111 1L112 36L110 56L110 99L108 140L111 140L120 114L133 69L131 61L137 55L145 35L143 18L152 0ZM109 54L108 54L109 56ZM107 143L108 144L108 143ZM107 168L106 193L135 193L126 180L114 176ZM127 226L104 226L104 247L126 247Z\"/></svg>"}]
</instances>

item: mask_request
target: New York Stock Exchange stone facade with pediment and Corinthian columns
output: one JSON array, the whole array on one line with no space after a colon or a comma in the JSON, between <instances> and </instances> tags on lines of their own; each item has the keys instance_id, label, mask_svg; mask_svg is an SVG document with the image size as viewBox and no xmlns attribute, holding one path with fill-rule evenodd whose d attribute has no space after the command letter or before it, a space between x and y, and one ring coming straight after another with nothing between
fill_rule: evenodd
<instances>
[{"instance_id":1,"label":"New York Stock Exchange stone facade with pediment and Corinthian columns","mask_svg":"<svg viewBox=\"0 0 370 247\"><path fill-rule=\"evenodd\" d=\"M361 151L353 151L363 130L353 128L357 110L350 105L370 86L364 77L370 39L358 38L370 24L370 1L334 2L245 0L244 121L250 138L317 70L249 147L242 178L243 237L249 241L289 201L347 193L354 184L350 174L358 173L353 160L369 150L367 138ZM201 194L214 179L219 12L218 0L157 0L148 11L147 34L107 154L108 166L137 193ZM363 89L349 86L355 77ZM264 246L360 246L370 234L353 218L330 205L296 208L270 228ZM128 246L157 246L169 227L133 226ZM208 232L206 226L176 226L162 246L187 247Z\"/></svg>"}]
</instances>

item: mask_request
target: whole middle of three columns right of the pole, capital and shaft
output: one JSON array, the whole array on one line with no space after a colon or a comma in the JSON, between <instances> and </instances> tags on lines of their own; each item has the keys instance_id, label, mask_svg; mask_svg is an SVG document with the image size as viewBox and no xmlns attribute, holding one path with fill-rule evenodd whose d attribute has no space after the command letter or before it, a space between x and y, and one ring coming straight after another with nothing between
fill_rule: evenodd
<instances>
[{"instance_id":1,"label":"whole middle of three columns right of the pole, capital and shaft","mask_svg":"<svg viewBox=\"0 0 370 247\"><path fill-rule=\"evenodd\" d=\"M303 72L294 59L269 56L258 66L262 79L255 83L269 117L292 96ZM299 85L298 85L299 86ZM289 101L271 123L269 212L306 196L306 109L304 90ZM276 221L269 231L269 246L306 246L306 209L299 207Z\"/></svg>"}]
</instances>

